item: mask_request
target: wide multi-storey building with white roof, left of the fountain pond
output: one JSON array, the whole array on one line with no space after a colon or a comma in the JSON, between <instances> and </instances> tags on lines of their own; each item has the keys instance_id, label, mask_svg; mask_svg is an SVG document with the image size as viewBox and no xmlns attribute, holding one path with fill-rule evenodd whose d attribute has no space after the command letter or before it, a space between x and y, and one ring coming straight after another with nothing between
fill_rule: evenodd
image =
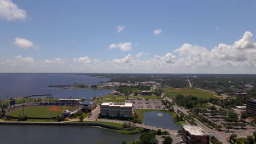
<instances>
[{"instance_id":1,"label":"wide multi-storey building with white roof, left of the fountain pond","mask_svg":"<svg viewBox=\"0 0 256 144\"><path fill-rule=\"evenodd\" d=\"M101 116L132 118L132 103L102 103Z\"/></svg>"}]
</instances>

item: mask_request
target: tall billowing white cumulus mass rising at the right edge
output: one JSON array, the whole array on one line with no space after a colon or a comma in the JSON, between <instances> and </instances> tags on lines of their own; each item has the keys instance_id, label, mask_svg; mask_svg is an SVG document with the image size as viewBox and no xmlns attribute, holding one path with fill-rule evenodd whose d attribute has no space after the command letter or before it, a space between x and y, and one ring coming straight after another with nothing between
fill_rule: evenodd
<instances>
[{"instance_id":1,"label":"tall billowing white cumulus mass rising at the right edge","mask_svg":"<svg viewBox=\"0 0 256 144\"><path fill-rule=\"evenodd\" d=\"M208 50L202 46L183 44L174 52L187 56L180 58L179 65L205 68L256 66L256 43L251 32L246 32L233 45L219 44Z\"/></svg>"}]
</instances>

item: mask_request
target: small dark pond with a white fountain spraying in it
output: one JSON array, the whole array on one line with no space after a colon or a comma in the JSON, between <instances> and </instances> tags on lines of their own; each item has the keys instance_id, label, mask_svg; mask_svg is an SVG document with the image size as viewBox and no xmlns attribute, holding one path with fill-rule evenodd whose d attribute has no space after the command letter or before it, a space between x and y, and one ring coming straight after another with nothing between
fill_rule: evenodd
<instances>
[{"instance_id":1,"label":"small dark pond with a white fountain spraying in it","mask_svg":"<svg viewBox=\"0 0 256 144\"><path fill-rule=\"evenodd\" d=\"M175 129L179 130L181 127L172 121L172 115L165 112L160 111L150 111L144 112L143 123L147 125L159 127L159 128L167 128L167 129Z\"/></svg>"}]
</instances>

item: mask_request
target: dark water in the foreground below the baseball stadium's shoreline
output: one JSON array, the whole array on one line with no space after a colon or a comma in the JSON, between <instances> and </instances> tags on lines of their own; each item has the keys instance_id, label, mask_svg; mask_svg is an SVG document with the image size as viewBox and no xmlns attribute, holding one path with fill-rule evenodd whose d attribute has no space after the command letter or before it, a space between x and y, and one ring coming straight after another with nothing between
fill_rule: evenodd
<instances>
[{"instance_id":1,"label":"dark water in the foreground below the baseball stadium's shoreline","mask_svg":"<svg viewBox=\"0 0 256 144\"><path fill-rule=\"evenodd\" d=\"M97 127L51 127L0 125L3 144L94 144L121 143L139 139L139 134L125 135Z\"/></svg>"}]
</instances>

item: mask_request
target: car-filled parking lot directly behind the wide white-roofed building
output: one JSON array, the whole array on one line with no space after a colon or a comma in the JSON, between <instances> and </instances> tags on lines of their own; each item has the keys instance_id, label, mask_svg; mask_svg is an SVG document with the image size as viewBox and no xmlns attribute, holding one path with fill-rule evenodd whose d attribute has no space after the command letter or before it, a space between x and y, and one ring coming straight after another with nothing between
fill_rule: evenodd
<instances>
[{"instance_id":1,"label":"car-filled parking lot directly behind the wide white-roofed building","mask_svg":"<svg viewBox=\"0 0 256 144\"><path fill-rule=\"evenodd\" d=\"M156 99L134 99L126 100L126 103L132 103L134 109L164 109L161 100Z\"/></svg>"}]
</instances>

